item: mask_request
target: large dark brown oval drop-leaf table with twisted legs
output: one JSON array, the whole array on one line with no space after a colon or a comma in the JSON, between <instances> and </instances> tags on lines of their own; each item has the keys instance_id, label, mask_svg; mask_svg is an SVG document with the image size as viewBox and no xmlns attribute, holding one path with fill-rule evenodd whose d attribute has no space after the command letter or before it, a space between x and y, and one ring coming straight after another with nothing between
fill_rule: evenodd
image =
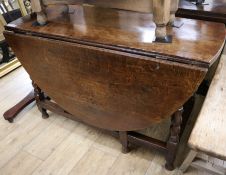
<instances>
[{"instance_id":1,"label":"large dark brown oval drop-leaf table with twisted legs","mask_svg":"<svg viewBox=\"0 0 226 175\"><path fill-rule=\"evenodd\" d=\"M111 131L125 152L131 145L157 148L172 170L183 106L218 59L224 25L180 19L181 28L167 28L172 44L160 44L152 42L151 14L91 6L70 6L76 13L62 14L60 8L48 8L45 26L33 25L31 15L5 32L35 82L43 117L50 110ZM167 141L134 132L169 116Z\"/></svg>"}]
</instances>

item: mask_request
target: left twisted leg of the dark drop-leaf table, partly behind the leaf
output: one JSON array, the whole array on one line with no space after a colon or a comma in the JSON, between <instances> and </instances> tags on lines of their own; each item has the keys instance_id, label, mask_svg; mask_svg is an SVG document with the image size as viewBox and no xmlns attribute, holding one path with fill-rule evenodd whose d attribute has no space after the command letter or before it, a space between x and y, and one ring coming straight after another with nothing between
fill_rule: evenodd
<instances>
[{"instance_id":1,"label":"left twisted leg of the dark drop-leaf table, partly behind the leaf","mask_svg":"<svg viewBox=\"0 0 226 175\"><path fill-rule=\"evenodd\" d=\"M34 87L34 95L35 95L35 100L38 106L39 111L42 113L42 118L46 119L49 117L49 114L47 113L47 110L43 107L41 107L40 102L44 101L46 99L44 92L38 87L37 84L34 82L32 83Z\"/></svg>"}]
</instances>

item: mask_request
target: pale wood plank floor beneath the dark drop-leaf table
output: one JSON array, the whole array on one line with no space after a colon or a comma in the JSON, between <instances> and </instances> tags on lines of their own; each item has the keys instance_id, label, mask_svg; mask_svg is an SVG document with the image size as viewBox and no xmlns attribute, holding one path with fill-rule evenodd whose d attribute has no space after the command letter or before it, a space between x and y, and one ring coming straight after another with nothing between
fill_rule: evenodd
<instances>
[{"instance_id":1,"label":"pale wood plank floor beneath the dark drop-leaf table","mask_svg":"<svg viewBox=\"0 0 226 175\"><path fill-rule=\"evenodd\" d=\"M0 116L31 90L30 83L23 68L0 79ZM149 132L162 137L160 126ZM118 140L84 124L56 114L44 120L34 104L13 124L0 118L0 175L181 174L166 171L164 163L154 150L122 154ZM186 174L207 175L193 168Z\"/></svg>"}]
</instances>

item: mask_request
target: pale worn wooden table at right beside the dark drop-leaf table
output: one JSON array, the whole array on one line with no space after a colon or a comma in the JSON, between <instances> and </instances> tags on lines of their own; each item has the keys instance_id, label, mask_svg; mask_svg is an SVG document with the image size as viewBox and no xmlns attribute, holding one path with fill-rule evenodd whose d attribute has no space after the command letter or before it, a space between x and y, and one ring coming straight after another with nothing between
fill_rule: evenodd
<instances>
[{"instance_id":1,"label":"pale worn wooden table at right beside the dark drop-leaf table","mask_svg":"<svg viewBox=\"0 0 226 175\"><path fill-rule=\"evenodd\" d=\"M226 174L226 167L223 165L223 160L226 160L225 99L226 53L221 56L216 74L190 136L188 144L191 151L181 166L183 172L189 166L194 166L214 174ZM200 153L202 153L201 156ZM216 158L222 159L217 161L221 162L221 167L217 167L219 163L218 165L214 163Z\"/></svg>"}]
</instances>

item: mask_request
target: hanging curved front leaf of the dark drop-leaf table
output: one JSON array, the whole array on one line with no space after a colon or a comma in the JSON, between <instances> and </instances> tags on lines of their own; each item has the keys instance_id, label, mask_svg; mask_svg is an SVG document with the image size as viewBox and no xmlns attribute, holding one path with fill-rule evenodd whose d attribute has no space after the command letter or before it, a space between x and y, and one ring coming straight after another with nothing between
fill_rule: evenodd
<instances>
[{"instance_id":1,"label":"hanging curved front leaf of the dark drop-leaf table","mask_svg":"<svg viewBox=\"0 0 226 175\"><path fill-rule=\"evenodd\" d=\"M192 96L207 71L63 41L5 36L44 92L103 129L138 130L160 122Z\"/></svg>"}]
</instances>

